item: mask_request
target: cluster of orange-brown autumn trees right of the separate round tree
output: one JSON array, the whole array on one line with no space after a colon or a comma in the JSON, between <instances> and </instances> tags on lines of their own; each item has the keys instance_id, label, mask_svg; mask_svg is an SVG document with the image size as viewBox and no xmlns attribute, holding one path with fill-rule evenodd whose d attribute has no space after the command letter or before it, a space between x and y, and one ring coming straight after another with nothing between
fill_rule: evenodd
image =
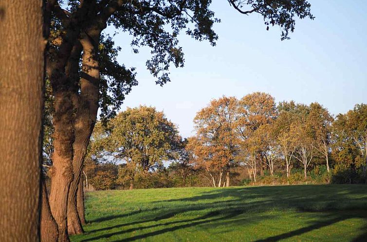
<instances>
[{"instance_id":1,"label":"cluster of orange-brown autumn trees right of the separate round tree","mask_svg":"<svg viewBox=\"0 0 367 242\"><path fill-rule=\"evenodd\" d=\"M214 187L223 181L228 186L231 169L239 165L254 182L264 170L274 176L276 169L284 169L289 177L292 167L301 167L307 179L309 167L320 160L330 173L330 157L337 171L361 173L365 180L366 115L366 104L334 119L318 103L276 105L271 95L261 92L240 100L223 96L197 113L196 135L189 138L188 150Z\"/></svg>"}]
</instances>

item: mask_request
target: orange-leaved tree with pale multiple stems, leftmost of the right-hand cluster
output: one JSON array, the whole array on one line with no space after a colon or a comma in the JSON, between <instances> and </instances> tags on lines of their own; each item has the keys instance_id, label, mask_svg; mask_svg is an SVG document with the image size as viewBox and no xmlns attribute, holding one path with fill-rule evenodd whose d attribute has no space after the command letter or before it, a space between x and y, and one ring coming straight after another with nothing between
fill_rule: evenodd
<instances>
[{"instance_id":1,"label":"orange-leaved tree with pale multiple stems, leftmost of the right-hand cluster","mask_svg":"<svg viewBox=\"0 0 367 242\"><path fill-rule=\"evenodd\" d=\"M203 162L207 162L210 157L212 162L216 163L213 165L219 170L219 187L223 172L226 173L225 182L229 187L230 169L236 165L235 157L239 148L239 140L235 132L237 109L238 100L235 97L223 96L218 100L212 100L194 118L197 134L195 141L192 139L190 147L196 156L196 165L208 170L209 167ZM198 147L192 147L193 145ZM209 174L212 176L211 173Z\"/></svg>"}]
</instances>

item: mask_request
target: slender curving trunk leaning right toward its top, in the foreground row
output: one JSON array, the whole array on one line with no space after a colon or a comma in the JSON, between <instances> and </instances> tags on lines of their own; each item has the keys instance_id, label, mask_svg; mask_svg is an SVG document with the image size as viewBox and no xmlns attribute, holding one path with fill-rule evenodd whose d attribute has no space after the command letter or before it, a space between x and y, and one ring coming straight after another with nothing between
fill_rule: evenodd
<instances>
[{"instance_id":1,"label":"slender curving trunk leaning right toward its top, in the foreground row","mask_svg":"<svg viewBox=\"0 0 367 242\"><path fill-rule=\"evenodd\" d=\"M86 35L80 39L83 47L82 74L80 79L80 95L77 113L74 121L73 142L73 180L68 197L68 232L69 234L83 233L83 228L77 213L76 195L87 147L97 119L99 100L99 64L96 55L96 40ZM98 34L99 36L99 34Z\"/></svg>"}]
</instances>

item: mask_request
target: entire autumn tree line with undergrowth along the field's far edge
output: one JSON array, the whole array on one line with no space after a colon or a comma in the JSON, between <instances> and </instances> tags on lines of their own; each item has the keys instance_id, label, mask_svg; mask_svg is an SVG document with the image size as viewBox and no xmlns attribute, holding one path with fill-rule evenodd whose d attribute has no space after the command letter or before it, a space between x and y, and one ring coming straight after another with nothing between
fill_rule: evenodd
<instances>
[{"instance_id":1,"label":"entire autumn tree line with undergrowth along the field's far edge","mask_svg":"<svg viewBox=\"0 0 367 242\"><path fill-rule=\"evenodd\" d=\"M182 139L163 112L147 106L97 123L85 166L95 188L228 187L244 169L254 184L258 177L264 182L264 174L273 184L279 175L289 184L300 169L297 182L312 182L317 173L324 176L318 182L366 182L367 104L334 118L318 103L276 104L255 92L212 100L194 123L196 134ZM103 177L99 170L107 167Z\"/></svg>"}]
</instances>

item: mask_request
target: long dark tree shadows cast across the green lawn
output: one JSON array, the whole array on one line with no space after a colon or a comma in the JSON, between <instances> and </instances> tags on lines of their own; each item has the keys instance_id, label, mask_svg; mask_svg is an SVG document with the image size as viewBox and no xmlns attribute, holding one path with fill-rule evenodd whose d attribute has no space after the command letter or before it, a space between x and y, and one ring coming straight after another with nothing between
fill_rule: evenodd
<instances>
[{"instance_id":1,"label":"long dark tree shadows cast across the green lawn","mask_svg":"<svg viewBox=\"0 0 367 242\"><path fill-rule=\"evenodd\" d=\"M148 211L154 211L148 215L146 220L133 221L131 223L118 224L104 228L98 228L90 231L90 233L108 231L110 229L121 228L120 231L110 232L103 235L94 236L93 238L84 239L83 242L107 239L111 236L123 235L136 230L155 228L160 226L175 225L173 227L166 227L158 229L145 234L139 234L130 238L121 239L119 241L135 241L139 239L145 239L151 236L164 234L166 232L172 232L178 229L209 224L210 226L220 223L228 223L226 220L237 220L240 225L246 225L250 223L257 223L260 220L266 219L264 216L257 217L256 212L268 211L268 210L287 210L294 209L299 212L326 212L333 211L326 217L320 217L319 221L312 225L295 229L294 231L286 232L280 235L275 235L266 239L258 240L257 242L274 242L282 239L292 238L297 235L301 235L310 232L321 227L329 226L340 221L344 221L350 218L361 217L367 218L367 210L365 205L367 187L358 190L350 190L348 187L331 187L328 186L282 186L282 187L250 187L250 188L229 188L218 189L207 192L202 192L198 196L186 197L180 199L170 199L165 201L155 201L157 207L149 209ZM302 191L302 192L300 192ZM221 200L226 199L228 200ZM172 205L170 205L172 203ZM158 209L159 207L159 209ZM200 211L204 209L213 210L206 213L203 216L181 220L181 221L169 221L167 223L158 223L146 226L136 226L124 230L124 226L139 225L148 222L158 222L164 219L173 218L177 214L182 214L191 211ZM362 213L358 215L357 211L361 210ZM137 210L128 214L107 216L99 218L93 222L103 222L108 220L114 220L123 218L129 215L135 215L142 211ZM338 211L335 213L335 211ZM254 216L251 219L243 218L236 219L239 214L250 212ZM274 215L273 215L274 216ZM145 216L146 217L146 216ZM331 217L331 218L330 218ZM270 218L270 216L268 216ZM182 224L184 223L184 224ZM366 241L367 233L361 235L355 239L355 242Z\"/></svg>"}]
</instances>

